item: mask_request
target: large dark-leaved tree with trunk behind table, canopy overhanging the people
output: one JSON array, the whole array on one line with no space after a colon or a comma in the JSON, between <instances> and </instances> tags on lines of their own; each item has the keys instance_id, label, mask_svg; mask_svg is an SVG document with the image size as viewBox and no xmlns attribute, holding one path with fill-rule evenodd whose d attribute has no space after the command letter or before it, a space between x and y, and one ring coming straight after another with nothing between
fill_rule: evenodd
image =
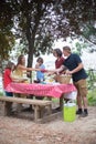
<instances>
[{"instance_id":1,"label":"large dark-leaved tree with trunk behind table, canopy overhanging the people","mask_svg":"<svg viewBox=\"0 0 96 144\"><path fill-rule=\"evenodd\" d=\"M33 54L50 53L54 40L84 35L85 27L88 24L92 24L94 30L96 29L95 0L3 1L7 9L11 10L8 12L10 19L7 25L12 25L10 24L12 21L15 38L20 38L21 42L26 45L23 51L29 54L28 66L32 65ZM3 13L4 10L1 11ZM93 40L89 37L85 38Z\"/></svg>"}]
</instances>

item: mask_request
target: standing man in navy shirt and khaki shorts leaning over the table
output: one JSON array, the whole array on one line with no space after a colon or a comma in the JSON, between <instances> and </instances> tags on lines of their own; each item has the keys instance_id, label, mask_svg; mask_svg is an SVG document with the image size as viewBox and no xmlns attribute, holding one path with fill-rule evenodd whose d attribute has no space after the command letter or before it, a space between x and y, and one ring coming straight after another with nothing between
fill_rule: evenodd
<instances>
[{"instance_id":1,"label":"standing man in navy shirt and khaki shorts leaning over the table","mask_svg":"<svg viewBox=\"0 0 96 144\"><path fill-rule=\"evenodd\" d=\"M86 78L87 74L84 70L84 65L82 63L81 58L76 53L71 52L70 47L63 48L63 54L66 56L64 61L64 66L66 66L68 70L66 70L66 74L72 74L73 83L75 88L77 89L77 105L78 110L76 111L76 114L82 114L82 116L87 116L87 88L86 88ZM84 106L84 111L83 111Z\"/></svg>"}]
</instances>

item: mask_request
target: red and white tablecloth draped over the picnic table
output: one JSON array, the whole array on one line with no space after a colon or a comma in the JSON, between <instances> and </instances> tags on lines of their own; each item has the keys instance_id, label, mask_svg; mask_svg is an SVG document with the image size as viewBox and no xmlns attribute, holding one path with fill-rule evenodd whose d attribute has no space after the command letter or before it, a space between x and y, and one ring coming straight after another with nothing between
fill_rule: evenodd
<instances>
[{"instance_id":1,"label":"red and white tablecloth draped over the picnic table","mask_svg":"<svg viewBox=\"0 0 96 144\"><path fill-rule=\"evenodd\" d=\"M73 84L39 84L39 83L10 83L7 89L8 92L34 94L52 97L61 97L64 93L76 91Z\"/></svg>"}]
</instances>

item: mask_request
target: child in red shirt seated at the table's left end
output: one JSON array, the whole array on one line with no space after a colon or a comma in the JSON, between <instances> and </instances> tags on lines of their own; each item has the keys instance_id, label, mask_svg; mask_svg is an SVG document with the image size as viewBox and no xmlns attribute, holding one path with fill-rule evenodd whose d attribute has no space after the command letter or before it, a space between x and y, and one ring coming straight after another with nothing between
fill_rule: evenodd
<instances>
[{"instance_id":1,"label":"child in red shirt seated at the table's left end","mask_svg":"<svg viewBox=\"0 0 96 144\"><path fill-rule=\"evenodd\" d=\"M14 66L15 66L14 63L9 61L6 69L4 69L3 89L4 89L4 92L6 92L6 96L13 96L13 93L6 91L6 88L8 86L8 84L10 84L12 82L11 72L14 70Z\"/></svg>"}]
</instances>

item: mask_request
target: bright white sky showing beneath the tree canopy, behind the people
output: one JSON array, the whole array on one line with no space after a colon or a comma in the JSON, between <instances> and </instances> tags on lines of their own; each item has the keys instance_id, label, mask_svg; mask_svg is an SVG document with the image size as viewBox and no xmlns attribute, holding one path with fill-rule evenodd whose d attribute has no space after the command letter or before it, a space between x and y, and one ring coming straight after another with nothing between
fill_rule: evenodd
<instances>
[{"instance_id":1,"label":"bright white sky showing beneath the tree canopy, behind the people","mask_svg":"<svg viewBox=\"0 0 96 144\"><path fill-rule=\"evenodd\" d=\"M67 42L65 41L62 41L62 40L58 40L58 41L55 41L54 45L53 45L53 49L55 48L60 48L62 50L62 48L64 45L68 45L68 47L75 47L75 43L78 41L78 40L75 40L73 41L72 43L70 42L71 40L68 39ZM55 58L53 56L53 54L49 54L49 55L41 55L43 59L44 59L44 64L47 69L53 69L55 68ZM82 55L82 61L83 61L83 64L84 64L84 68L86 70L88 69L95 69L96 70L96 52L94 53L88 53L86 51L83 52L83 55ZM35 65L35 62L36 62L36 59L34 58L34 61L33 61L33 66Z\"/></svg>"}]
</instances>

